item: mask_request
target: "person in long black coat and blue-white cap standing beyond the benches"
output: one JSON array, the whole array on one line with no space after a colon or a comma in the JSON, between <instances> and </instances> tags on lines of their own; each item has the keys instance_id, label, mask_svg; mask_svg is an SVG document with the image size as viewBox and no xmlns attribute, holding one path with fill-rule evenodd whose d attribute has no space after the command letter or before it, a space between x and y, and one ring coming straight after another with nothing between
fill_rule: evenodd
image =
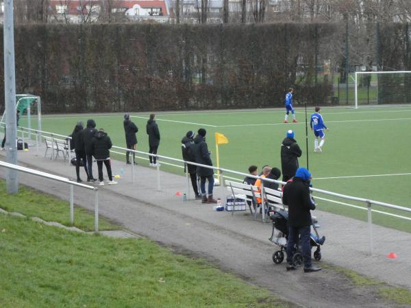
<instances>
[{"instance_id":1,"label":"person in long black coat and blue-white cap standing beyond the benches","mask_svg":"<svg viewBox=\"0 0 411 308\"><path fill-rule=\"evenodd\" d=\"M294 139L294 131L287 131L287 136L281 144L281 168L284 182L294 177L299 167L298 157L301 157L301 154L301 149Z\"/></svg>"}]
</instances>

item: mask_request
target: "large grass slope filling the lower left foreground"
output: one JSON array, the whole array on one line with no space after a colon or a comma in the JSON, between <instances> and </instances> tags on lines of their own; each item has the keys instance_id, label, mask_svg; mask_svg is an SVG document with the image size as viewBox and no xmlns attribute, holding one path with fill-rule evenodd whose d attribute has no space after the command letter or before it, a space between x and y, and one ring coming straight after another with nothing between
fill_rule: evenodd
<instances>
[{"instance_id":1,"label":"large grass slope filling the lower left foreground","mask_svg":"<svg viewBox=\"0 0 411 308\"><path fill-rule=\"evenodd\" d=\"M289 307L202 260L0 215L0 307Z\"/></svg>"}]
</instances>

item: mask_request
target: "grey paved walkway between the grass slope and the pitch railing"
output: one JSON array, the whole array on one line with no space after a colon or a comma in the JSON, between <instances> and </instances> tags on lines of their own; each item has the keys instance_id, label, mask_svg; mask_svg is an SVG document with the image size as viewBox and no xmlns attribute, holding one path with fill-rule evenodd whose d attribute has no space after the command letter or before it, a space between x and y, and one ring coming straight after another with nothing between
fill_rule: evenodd
<instances>
[{"instance_id":1,"label":"grey paved walkway between the grass slope and the pitch railing","mask_svg":"<svg viewBox=\"0 0 411 308\"><path fill-rule=\"evenodd\" d=\"M36 155L35 148L18 151L18 160L25 166L75 179L73 166L62 159L44 158L44 152L45 149L40 149L40 155ZM5 152L0 151L0 159L4 156ZM95 177L96 167L93 167ZM368 297L357 294L355 287L347 286L347 281L340 281L340 285L345 285L344 290L336 290L334 284L338 285L340 278L333 277L331 270L313 275L290 274L284 264L273 265L271 255L276 247L268 240L271 223L253 220L246 211L232 216L225 211L214 211L212 205L202 205L200 201L183 202L182 196L175 196L175 192L185 192L184 175L161 172L161 190L157 191L154 168L136 166L134 185L131 166L114 161L114 174L119 174L120 168L124 168L125 174L118 180L119 185L100 188L99 211L132 233L174 247L175 251L215 261L221 268L264 285L293 303L311 307L386 307L382 303L370 303L372 294ZM81 172L84 175L84 170ZM0 177L4 176L5 170L0 168ZM19 179L38 190L69 198L69 188L62 183L31 175L21 175ZM222 200L228 194L225 188L215 188L214 196ZM92 193L75 188L75 203L92 210ZM319 232L327 238L321 262L411 289L411 234L374 225L374 255L370 257L365 222L320 210L315 214L321 224ZM398 258L388 259L390 252L397 253Z\"/></svg>"}]
</instances>

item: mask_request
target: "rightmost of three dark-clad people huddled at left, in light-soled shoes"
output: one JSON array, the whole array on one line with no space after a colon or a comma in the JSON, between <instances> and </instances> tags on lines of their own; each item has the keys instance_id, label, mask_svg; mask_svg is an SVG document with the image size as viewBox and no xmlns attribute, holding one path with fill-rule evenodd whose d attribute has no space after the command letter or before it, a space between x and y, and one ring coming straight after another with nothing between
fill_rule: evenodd
<instances>
[{"instance_id":1,"label":"rightmost of three dark-clad people huddled at left, in light-soled shoes","mask_svg":"<svg viewBox=\"0 0 411 308\"><path fill-rule=\"evenodd\" d=\"M112 142L107 133L104 132L104 129L99 129L99 132L95 134L95 137L92 138L92 153L97 162L97 168L99 170L99 185L104 186L103 181L103 163L107 169L108 174L108 185L114 185L117 182L113 181L112 170L110 166L110 149L112 147Z\"/></svg>"}]
</instances>

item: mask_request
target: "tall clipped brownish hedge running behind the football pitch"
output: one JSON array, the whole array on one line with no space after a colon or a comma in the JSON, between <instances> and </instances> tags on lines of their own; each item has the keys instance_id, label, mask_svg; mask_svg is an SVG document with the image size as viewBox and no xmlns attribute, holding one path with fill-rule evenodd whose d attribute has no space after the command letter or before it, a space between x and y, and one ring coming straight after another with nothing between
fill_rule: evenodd
<instances>
[{"instance_id":1,"label":"tall clipped brownish hedge running behind the football pitch","mask_svg":"<svg viewBox=\"0 0 411 308\"><path fill-rule=\"evenodd\" d=\"M404 26L379 29L378 56L403 67ZM334 94L321 69L344 62L344 31L334 23L18 26L16 92L40 95L44 112L279 107L290 86L296 104L323 105Z\"/></svg>"}]
</instances>

